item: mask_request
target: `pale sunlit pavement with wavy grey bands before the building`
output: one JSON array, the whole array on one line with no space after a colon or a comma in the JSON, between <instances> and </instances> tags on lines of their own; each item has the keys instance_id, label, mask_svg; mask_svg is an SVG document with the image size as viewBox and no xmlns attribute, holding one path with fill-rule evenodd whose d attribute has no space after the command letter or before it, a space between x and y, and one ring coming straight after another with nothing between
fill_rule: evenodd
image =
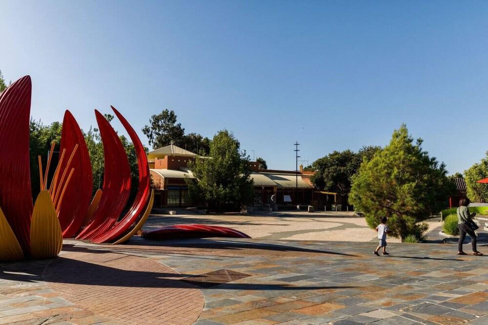
<instances>
[{"instance_id":1,"label":"pale sunlit pavement with wavy grey bands before the building","mask_svg":"<svg viewBox=\"0 0 488 325\"><path fill-rule=\"evenodd\" d=\"M439 219L427 221L428 232L441 226ZM366 225L366 220L354 217L353 212L282 211L228 214L197 214L179 210L177 215L154 214L144 225L144 230L162 226L202 223L231 227L255 239L268 240L319 240L319 241L376 241L376 231ZM437 233L439 230L437 230ZM390 238L390 242L400 242Z\"/></svg>"}]
</instances>

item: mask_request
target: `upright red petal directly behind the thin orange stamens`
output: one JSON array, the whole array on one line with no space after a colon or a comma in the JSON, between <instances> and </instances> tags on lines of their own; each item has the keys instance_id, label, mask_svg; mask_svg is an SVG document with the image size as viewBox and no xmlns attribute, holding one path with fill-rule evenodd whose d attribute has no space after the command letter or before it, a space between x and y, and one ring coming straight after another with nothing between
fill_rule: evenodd
<instances>
[{"instance_id":1,"label":"upright red petal directly behind the thin orange stamens","mask_svg":"<svg viewBox=\"0 0 488 325\"><path fill-rule=\"evenodd\" d=\"M90 206L91 193L93 188L93 174L90 163L90 155L86 142L81 133L80 126L71 112L64 113L61 132L60 152L66 151L70 155L75 146L78 148L73 156L70 166L66 166L67 159L60 166L62 174L66 167L74 168L70 183L66 189L63 199L60 201L58 219L60 220L63 238L73 238L83 224L86 212Z\"/></svg>"}]
</instances>

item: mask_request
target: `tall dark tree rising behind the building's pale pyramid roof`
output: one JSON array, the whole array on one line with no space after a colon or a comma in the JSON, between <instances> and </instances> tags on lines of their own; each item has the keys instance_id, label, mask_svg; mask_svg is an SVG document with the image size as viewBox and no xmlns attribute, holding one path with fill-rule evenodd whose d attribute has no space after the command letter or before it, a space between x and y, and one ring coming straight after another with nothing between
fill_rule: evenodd
<instances>
[{"instance_id":1,"label":"tall dark tree rising behind the building's pale pyramid roof","mask_svg":"<svg viewBox=\"0 0 488 325\"><path fill-rule=\"evenodd\" d=\"M167 146L174 142L180 146L183 142L184 128L176 123L177 116L174 111L164 110L158 115L152 115L149 124L142 128L142 132L149 139L153 149Z\"/></svg>"}]
</instances>

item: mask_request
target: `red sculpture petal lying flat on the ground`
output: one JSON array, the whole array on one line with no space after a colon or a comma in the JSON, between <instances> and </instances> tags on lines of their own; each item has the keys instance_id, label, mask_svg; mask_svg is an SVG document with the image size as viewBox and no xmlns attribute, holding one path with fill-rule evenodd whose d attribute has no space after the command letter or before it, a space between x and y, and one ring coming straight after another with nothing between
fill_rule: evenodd
<instances>
[{"instance_id":1,"label":"red sculpture petal lying flat on the ground","mask_svg":"<svg viewBox=\"0 0 488 325\"><path fill-rule=\"evenodd\" d=\"M143 232L142 237L152 240L208 237L251 238L244 232L236 229L199 224L174 225L163 227L158 230Z\"/></svg>"}]
</instances>

